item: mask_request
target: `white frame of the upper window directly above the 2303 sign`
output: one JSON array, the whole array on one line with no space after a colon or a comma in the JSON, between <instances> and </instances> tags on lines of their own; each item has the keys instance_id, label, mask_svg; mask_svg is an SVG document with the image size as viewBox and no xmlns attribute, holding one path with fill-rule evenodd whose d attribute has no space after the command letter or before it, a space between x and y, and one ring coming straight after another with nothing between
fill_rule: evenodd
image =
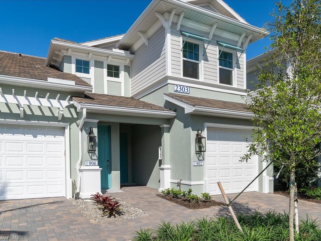
<instances>
[{"instance_id":1,"label":"white frame of the upper window directly above the 2303 sign","mask_svg":"<svg viewBox=\"0 0 321 241\"><path fill-rule=\"evenodd\" d=\"M192 60L192 59L188 59L188 58L183 58L183 42L184 40L186 39L186 42L190 42L190 43L195 43L195 44L198 44L198 49L199 49L199 60L196 61L196 60ZM204 77L203 77L203 69L204 69L204 63L203 63L203 44L204 42L203 41L197 41L197 40L194 40L194 39L191 39L191 38L184 38L184 36L180 36L180 41L181 41L181 44L180 44L180 54L181 54L181 78L183 79L188 79L188 80L195 80L195 81L204 81ZM183 76L183 60L186 60L186 61L190 61L190 62L194 62L194 63L198 63L198 79L194 79L194 78L189 78L189 77L185 77Z\"/></svg>"}]
</instances>

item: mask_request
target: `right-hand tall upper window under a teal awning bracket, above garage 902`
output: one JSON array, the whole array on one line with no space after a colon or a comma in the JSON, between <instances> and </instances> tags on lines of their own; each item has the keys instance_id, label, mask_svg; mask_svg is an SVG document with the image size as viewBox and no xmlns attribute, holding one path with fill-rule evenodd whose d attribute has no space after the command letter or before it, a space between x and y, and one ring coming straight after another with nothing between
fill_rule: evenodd
<instances>
[{"instance_id":1,"label":"right-hand tall upper window under a teal awning bracket, above garage 902","mask_svg":"<svg viewBox=\"0 0 321 241\"><path fill-rule=\"evenodd\" d=\"M233 54L220 51L219 55L219 83L233 85Z\"/></svg>"}]
</instances>

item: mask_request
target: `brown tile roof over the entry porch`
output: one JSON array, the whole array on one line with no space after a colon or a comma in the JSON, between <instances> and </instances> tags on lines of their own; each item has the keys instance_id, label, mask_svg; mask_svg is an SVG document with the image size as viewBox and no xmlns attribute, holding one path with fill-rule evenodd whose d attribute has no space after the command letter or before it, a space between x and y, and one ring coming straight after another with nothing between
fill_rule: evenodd
<instances>
[{"instance_id":1,"label":"brown tile roof over the entry porch","mask_svg":"<svg viewBox=\"0 0 321 241\"><path fill-rule=\"evenodd\" d=\"M97 94L86 92L84 97L73 97L73 100L78 103L84 104L97 104L106 106L118 106L127 108L136 108L144 110L156 110L156 111L168 111L173 112L170 109L166 109L162 106L154 105L145 101L137 100L131 97L109 95L109 94Z\"/></svg>"}]
</instances>

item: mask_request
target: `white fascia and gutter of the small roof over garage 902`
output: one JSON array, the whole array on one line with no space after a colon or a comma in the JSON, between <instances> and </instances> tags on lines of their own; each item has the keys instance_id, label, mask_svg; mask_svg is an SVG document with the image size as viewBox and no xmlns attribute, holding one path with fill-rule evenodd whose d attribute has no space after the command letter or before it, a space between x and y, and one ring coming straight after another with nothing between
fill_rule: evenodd
<instances>
[{"instance_id":1,"label":"white fascia and gutter of the small roof over garage 902","mask_svg":"<svg viewBox=\"0 0 321 241\"><path fill-rule=\"evenodd\" d=\"M164 99L185 109L185 114L209 115L228 118L251 119L254 114L244 111L233 111L204 106L193 106L164 94Z\"/></svg>"}]
</instances>

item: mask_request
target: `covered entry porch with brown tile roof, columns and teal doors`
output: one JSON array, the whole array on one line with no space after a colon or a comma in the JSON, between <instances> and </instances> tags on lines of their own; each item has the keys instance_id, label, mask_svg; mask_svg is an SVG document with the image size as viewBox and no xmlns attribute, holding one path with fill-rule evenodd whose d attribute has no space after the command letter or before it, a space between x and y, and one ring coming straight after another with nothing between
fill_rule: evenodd
<instances>
[{"instance_id":1,"label":"covered entry porch with brown tile roof, columns and teal doors","mask_svg":"<svg viewBox=\"0 0 321 241\"><path fill-rule=\"evenodd\" d=\"M79 122L83 121L76 195L79 192L80 198L88 199L93 193L117 192L122 184L131 183L168 188L166 149L169 119L175 117L175 112L128 97L88 95L91 98L74 98L82 115Z\"/></svg>"}]
</instances>

